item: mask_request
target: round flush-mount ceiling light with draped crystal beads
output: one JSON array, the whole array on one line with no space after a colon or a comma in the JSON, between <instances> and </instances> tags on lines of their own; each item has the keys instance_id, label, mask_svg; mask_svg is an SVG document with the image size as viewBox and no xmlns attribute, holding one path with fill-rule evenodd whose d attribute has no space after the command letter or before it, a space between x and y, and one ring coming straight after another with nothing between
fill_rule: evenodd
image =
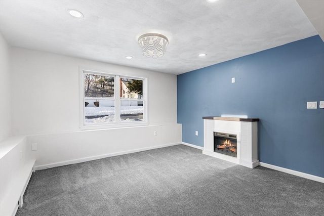
<instances>
[{"instance_id":1,"label":"round flush-mount ceiling light with draped crystal beads","mask_svg":"<svg viewBox=\"0 0 324 216\"><path fill-rule=\"evenodd\" d=\"M154 59L162 57L169 44L166 36L156 33L143 34L137 42L143 51L143 55Z\"/></svg>"}]
</instances>

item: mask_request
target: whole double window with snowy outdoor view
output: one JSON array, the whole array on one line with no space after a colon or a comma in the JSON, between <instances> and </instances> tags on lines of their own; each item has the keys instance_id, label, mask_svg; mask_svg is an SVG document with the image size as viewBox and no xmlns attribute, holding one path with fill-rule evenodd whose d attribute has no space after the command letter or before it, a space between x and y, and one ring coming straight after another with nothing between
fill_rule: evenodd
<instances>
[{"instance_id":1,"label":"whole double window with snowy outdoor view","mask_svg":"<svg viewBox=\"0 0 324 216\"><path fill-rule=\"evenodd\" d=\"M81 127L147 124L146 80L80 70Z\"/></svg>"}]
</instances>

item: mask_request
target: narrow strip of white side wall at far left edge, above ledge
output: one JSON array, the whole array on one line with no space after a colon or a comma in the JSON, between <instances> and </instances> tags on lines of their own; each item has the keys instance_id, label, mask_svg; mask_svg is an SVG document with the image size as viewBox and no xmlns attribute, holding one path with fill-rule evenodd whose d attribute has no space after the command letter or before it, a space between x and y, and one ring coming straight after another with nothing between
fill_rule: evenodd
<instances>
[{"instance_id":1,"label":"narrow strip of white side wall at far left edge, above ledge","mask_svg":"<svg viewBox=\"0 0 324 216\"><path fill-rule=\"evenodd\" d=\"M11 133L9 49L6 39L0 33L0 142Z\"/></svg>"}]
</instances>

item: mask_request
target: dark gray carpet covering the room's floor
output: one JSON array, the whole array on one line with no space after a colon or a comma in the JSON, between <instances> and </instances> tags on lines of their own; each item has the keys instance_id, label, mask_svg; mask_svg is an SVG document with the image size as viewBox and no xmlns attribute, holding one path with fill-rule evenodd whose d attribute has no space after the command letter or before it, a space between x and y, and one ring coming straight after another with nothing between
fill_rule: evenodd
<instances>
[{"instance_id":1,"label":"dark gray carpet covering the room's floor","mask_svg":"<svg viewBox=\"0 0 324 216\"><path fill-rule=\"evenodd\" d=\"M16 215L324 215L324 184L178 145L36 171Z\"/></svg>"}]
</instances>

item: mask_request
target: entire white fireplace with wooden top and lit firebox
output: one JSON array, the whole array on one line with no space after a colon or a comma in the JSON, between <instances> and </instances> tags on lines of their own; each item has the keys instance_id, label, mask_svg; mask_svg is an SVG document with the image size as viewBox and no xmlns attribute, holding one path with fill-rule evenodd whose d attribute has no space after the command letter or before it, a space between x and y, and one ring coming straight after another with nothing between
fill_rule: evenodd
<instances>
[{"instance_id":1,"label":"entire white fireplace with wooden top and lit firebox","mask_svg":"<svg viewBox=\"0 0 324 216\"><path fill-rule=\"evenodd\" d=\"M206 116L203 154L254 168L258 160L258 118Z\"/></svg>"}]
</instances>

